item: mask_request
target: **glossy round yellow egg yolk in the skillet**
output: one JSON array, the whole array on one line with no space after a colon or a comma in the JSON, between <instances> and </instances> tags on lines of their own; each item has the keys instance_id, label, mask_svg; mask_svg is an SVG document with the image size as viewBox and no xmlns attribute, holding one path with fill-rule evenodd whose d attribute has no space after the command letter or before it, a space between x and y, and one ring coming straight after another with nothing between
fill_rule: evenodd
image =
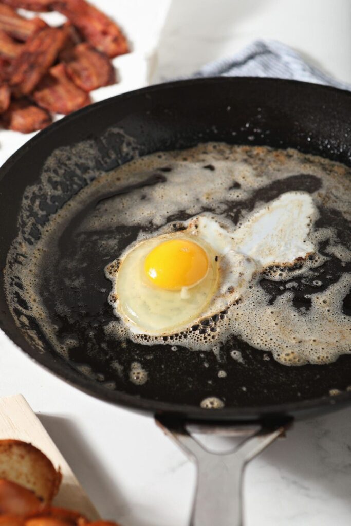
<instances>
[{"instance_id":1,"label":"glossy round yellow egg yolk in the skillet","mask_svg":"<svg viewBox=\"0 0 351 526\"><path fill-rule=\"evenodd\" d=\"M144 269L149 280L159 288L181 290L204 279L208 269L205 250L188 239L160 243L145 258Z\"/></svg>"}]
</instances>

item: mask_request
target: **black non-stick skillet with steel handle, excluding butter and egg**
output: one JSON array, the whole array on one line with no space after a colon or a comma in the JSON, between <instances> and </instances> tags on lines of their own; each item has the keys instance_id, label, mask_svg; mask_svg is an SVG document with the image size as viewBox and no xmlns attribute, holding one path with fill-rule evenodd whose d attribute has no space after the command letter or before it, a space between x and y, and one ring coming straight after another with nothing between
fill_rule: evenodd
<instances>
[{"instance_id":1,"label":"black non-stick skillet with steel handle, excluding butter and egg","mask_svg":"<svg viewBox=\"0 0 351 526\"><path fill-rule=\"evenodd\" d=\"M84 108L39 133L2 167L1 268L5 267L18 229L23 228L17 218L24 190L38 180L46 159L58 147L72 148L81 141L93 140L98 152L96 169L106 171L135 155L182 149L204 141L293 147L351 166L350 128L350 93L278 79L186 80L141 89ZM84 158L77 158L75 162L79 170L84 167ZM83 179L75 177L74 170L67 171L63 177L66 182L62 198L43 203L46 218L56 213L84 184ZM32 219L39 220L35 208ZM43 221L43 215L40 220ZM66 243L64 249L69 250L69 236ZM99 268L98 256L91 255L92 267L96 267L96 276L99 276L93 274L93 281L105 279L104 265ZM201 358L197 352L183 348L171 352L164 346L152 351L148 348L149 381L135 386L111 370L106 353L87 352L84 340L74 356L64 359L55 353L39 328L31 326L33 320L28 320L27 327L36 330L44 352L30 345L25 330L17 327L9 311L3 275L1 279L0 326L21 349L57 376L93 396L154 414L161 426L197 460L198 491L191 522L194 526L242 524L239 489L245 463L282 434L294 418L334 410L351 401L351 392L346 391L351 385L351 356L340 357L325 366L285 367L274 360L264 361L261 351L243 342L237 345L245 358L245 366L228 360L227 377L218 384L208 382L208 371L220 367L218 357L206 357L209 362L206 369L199 367ZM108 293L103 297L100 294L99 298L94 296L95 292L91 294L93 297L86 298L81 317L112 316L107 304ZM103 338L101 335L101 341ZM226 360L229 350L224 350L222 360ZM146 360L143 346L119 352L118 357L126 370L134 360L142 364ZM88 367L89 375L82 372L82 364ZM112 380L114 389L108 388L108 381ZM342 391L340 395L329 396L329 390L336 388ZM200 401L214 392L225 400L225 407L201 408ZM218 457L205 451L192 438L190 430L194 431L194 423L202 431L248 438L234 452Z\"/></svg>"}]
</instances>

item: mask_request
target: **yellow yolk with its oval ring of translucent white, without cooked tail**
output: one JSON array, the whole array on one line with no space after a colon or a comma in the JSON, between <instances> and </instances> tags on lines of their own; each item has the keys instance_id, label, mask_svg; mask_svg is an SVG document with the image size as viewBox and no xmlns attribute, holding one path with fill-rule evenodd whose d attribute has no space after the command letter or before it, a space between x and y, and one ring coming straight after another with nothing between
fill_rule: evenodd
<instances>
[{"instance_id":1,"label":"yellow yolk with its oval ring of translucent white, without cooked tail","mask_svg":"<svg viewBox=\"0 0 351 526\"><path fill-rule=\"evenodd\" d=\"M215 256L202 236L188 230L138 243L118 270L114 287L118 313L134 331L150 334L191 323L218 287Z\"/></svg>"}]
</instances>

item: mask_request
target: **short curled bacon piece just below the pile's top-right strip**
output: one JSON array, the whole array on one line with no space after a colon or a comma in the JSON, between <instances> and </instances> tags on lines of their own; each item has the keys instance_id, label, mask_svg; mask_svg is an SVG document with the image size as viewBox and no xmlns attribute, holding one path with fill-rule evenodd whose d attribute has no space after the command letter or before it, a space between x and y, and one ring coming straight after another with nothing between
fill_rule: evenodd
<instances>
[{"instance_id":1,"label":"short curled bacon piece just below the pile's top-right strip","mask_svg":"<svg viewBox=\"0 0 351 526\"><path fill-rule=\"evenodd\" d=\"M64 58L67 74L85 92L116 82L109 58L86 42L66 52Z\"/></svg>"}]
</instances>

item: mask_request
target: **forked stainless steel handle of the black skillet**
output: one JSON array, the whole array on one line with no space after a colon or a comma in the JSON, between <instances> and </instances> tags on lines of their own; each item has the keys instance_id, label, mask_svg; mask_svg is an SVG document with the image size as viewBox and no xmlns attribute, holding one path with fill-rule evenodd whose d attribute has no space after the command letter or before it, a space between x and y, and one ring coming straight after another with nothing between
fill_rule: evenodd
<instances>
[{"instance_id":1,"label":"forked stainless steel handle of the black skillet","mask_svg":"<svg viewBox=\"0 0 351 526\"><path fill-rule=\"evenodd\" d=\"M246 464L285 433L290 420L275 423L214 426L157 417L157 424L197 466L197 485L190 526L243 526L242 477ZM208 451L193 433L242 436L226 453Z\"/></svg>"}]
</instances>

